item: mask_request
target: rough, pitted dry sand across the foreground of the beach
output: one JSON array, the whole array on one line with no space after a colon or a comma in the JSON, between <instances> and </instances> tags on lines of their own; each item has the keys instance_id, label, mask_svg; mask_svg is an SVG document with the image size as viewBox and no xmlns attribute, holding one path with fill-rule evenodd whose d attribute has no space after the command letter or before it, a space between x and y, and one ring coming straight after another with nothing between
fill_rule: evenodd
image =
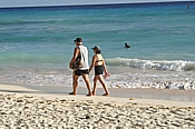
<instances>
[{"instance_id":1,"label":"rough, pitted dry sand across the foreground of the beach","mask_svg":"<svg viewBox=\"0 0 195 129\"><path fill-rule=\"evenodd\" d=\"M195 129L195 107L0 95L0 129Z\"/></svg>"}]
</instances>

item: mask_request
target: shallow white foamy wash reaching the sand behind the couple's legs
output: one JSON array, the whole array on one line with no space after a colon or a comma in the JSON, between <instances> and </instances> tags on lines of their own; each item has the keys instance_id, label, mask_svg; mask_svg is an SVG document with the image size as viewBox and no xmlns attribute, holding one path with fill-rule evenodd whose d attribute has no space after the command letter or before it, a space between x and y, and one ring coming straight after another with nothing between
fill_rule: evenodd
<instances>
[{"instance_id":1,"label":"shallow white foamy wash reaching the sand behind the couple's legs","mask_svg":"<svg viewBox=\"0 0 195 129\"><path fill-rule=\"evenodd\" d=\"M0 68L0 82L30 86L71 87L71 70L65 68ZM109 88L195 89L194 71L159 71L130 67L109 67L105 79ZM89 75L92 85L94 71ZM81 77L79 87L86 87ZM98 83L101 88L101 85Z\"/></svg>"}]
</instances>

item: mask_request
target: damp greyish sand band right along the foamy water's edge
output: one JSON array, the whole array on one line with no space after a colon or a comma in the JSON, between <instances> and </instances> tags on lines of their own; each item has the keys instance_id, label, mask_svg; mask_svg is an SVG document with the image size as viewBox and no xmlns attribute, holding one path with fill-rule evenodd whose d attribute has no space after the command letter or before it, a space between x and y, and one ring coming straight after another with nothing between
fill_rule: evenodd
<instances>
[{"instance_id":1,"label":"damp greyish sand band right along the foamy water's edge","mask_svg":"<svg viewBox=\"0 0 195 129\"><path fill-rule=\"evenodd\" d=\"M10 87L10 88L9 88ZM72 91L71 87L51 87L51 86L2 86L0 91L8 92L21 92L20 90L27 89L26 92L37 91L36 93L53 93L53 95L68 95ZM25 92L23 91L23 92ZM176 90L176 89L154 89L154 88L109 88L110 97L117 98L138 98L138 99L159 99L159 100L174 100L174 101L194 101L195 102L195 90ZM78 87L78 95L85 96L87 88ZM97 89L97 96L104 93L103 88Z\"/></svg>"}]
</instances>

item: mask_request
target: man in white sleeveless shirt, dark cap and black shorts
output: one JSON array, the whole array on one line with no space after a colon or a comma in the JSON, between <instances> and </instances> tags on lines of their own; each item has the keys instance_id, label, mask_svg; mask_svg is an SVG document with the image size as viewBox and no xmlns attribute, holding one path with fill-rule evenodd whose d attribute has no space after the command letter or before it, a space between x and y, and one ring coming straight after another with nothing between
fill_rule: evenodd
<instances>
[{"instance_id":1,"label":"man in white sleeveless shirt, dark cap and black shorts","mask_svg":"<svg viewBox=\"0 0 195 129\"><path fill-rule=\"evenodd\" d=\"M74 76L72 76L74 91L70 92L69 95L77 95L78 78L80 76L82 76L82 78L84 78L84 80L87 85L87 88L88 88L88 95L87 96L92 96L91 87L90 87L90 82L89 82L89 77L88 77L88 75L89 75L88 50L85 46L82 46L82 39L81 38L77 38L74 41L76 43L76 48L74 50L74 57L71 58L71 60L69 62L69 68L71 69L71 64L74 63L74 61L76 61L76 59L79 56L81 58L82 67L74 69Z\"/></svg>"}]
</instances>

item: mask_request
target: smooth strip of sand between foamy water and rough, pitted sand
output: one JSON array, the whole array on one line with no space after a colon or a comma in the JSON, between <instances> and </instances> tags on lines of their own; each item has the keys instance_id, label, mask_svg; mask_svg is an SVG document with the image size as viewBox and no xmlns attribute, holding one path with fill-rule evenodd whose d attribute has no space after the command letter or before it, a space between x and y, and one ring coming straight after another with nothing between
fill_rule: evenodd
<instances>
[{"instance_id":1,"label":"smooth strip of sand between foamy water and rough, pitted sand","mask_svg":"<svg viewBox=\"0 0 195 129\"><path fill-rule=\"evenodd\" d=\"M104 90L97 89L97 96L86 97L87 88L78 88L77 96L69 96L71 87L43 87L43 86L13 86L0 85L0 93L46 97L49 99L65 98L68 100L92 100L95 102L144 105L163 105L167 107L195 107L195 91L192 90L164 90L164 89L125 89L109 88L110 96L104 97ZM176 92L177 91L177 92Z\"/></svg>"}]
</instances>

